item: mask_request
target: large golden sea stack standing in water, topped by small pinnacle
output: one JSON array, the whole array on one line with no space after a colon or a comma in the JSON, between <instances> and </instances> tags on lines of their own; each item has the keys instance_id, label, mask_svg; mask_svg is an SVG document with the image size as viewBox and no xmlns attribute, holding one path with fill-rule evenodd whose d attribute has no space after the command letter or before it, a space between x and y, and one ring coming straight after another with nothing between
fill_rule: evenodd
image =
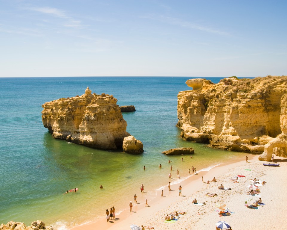
<instances>
[{"instance_id":1,"label":"large golden sea stack standing in water, topped by small pinnacle","mask_svg":"<svg viewBox=\"0 0 287 230\"><path fill-rule=\"evenodd\" d=\"M126 121L112 95L85 94L42 105L42 122L54 138L100 149L121 149Z\"/></svg>"}]
</instances>

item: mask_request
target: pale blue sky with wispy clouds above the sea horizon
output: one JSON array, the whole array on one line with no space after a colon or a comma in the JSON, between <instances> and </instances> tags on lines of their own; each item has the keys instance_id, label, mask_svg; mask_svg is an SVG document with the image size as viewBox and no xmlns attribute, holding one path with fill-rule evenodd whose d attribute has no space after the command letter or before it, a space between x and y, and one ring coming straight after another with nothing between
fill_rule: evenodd
<instances>
[{"instance_id":1,"label":"pale blue sky with wispy clouds above the sea horizon","mask_svg":"<svg viewBox=\"0 0 287 230\"><path fill-rule=\"evenodd\" d=\"M287 75L287 1L0 0L0 77Z\"/></svg>"}]
</instances>

